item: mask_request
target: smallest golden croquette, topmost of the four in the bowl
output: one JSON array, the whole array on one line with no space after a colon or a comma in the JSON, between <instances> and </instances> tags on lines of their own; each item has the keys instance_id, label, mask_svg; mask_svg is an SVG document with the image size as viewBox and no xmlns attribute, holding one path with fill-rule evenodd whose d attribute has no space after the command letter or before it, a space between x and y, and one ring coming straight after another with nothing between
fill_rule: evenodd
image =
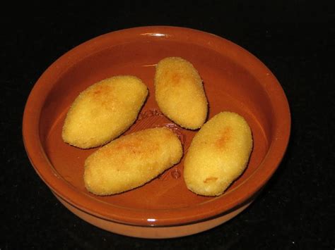
<instances>
[{"instance_id":1,"label":"smallest golden croquette, topmost of the four in the bowl","mask_svg":"<svg viewBox=\"0 0 335 250\"><path fill-rule=\"evenodd\" d=\"M155 99L167 118L196 130L207 117L204 86L192 63L180 57L167 57L155 69Z\"/></svg>"}]
</instances>

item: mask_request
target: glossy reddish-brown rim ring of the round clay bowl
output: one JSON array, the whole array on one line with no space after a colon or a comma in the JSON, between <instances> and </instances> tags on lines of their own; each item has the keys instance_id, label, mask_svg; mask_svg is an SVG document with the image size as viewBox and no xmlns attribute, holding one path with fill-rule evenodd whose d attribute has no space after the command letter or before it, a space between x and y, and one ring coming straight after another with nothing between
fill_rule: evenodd
<instances>
[{"instance_id":1,"label":"glossy reddish-brown rim ring of the round clay bowl","mask_svg":"<svg viewBox=\"0 0 335 250\"><path fill-rule=\"evenodd\" d=\"M52 89L52 85L49 83L55 82L59 75L64 73L67 68L83 60L83 58L116 44L141 40L143 36L154 37L155 39L192 42L192 44L199 44L200 46L205 46L204 41L206 41L208 49L225 54L225 56L228 56L233 61L238 61L242 67L248 68L249 72L264 85L267 94L271 96L272 109L276 111L274 117L276 130L273 131L274 142L269 146L269 151L259 165L259 168L257 168L248 180L235 188L233 192L226 193L225 199L218 197L209 201L210 209L208 209L208 202L187 208L154 211L122 208L103 202L98 203L97 200L90 198L87 194L78 192L78 190L59 177L40 143L40 113L45 98ZM239 60L239 58L243 58L243 60ZM271 71L255 56L226 39L199 30L182 27L153 26L119 30L96 37L77 46L50 65L40 79L37 80L33 90L30 92L23 115L25 149L36 172L54 193L69 202L69 204L91 215L112 220L113 222L141 226L195 223L199 220L213 218L237 208L258 192L266 184L271 175L274 174L285 154L289 137L290 110L288 101L281 85L276 80L276 77L272 75Z\"/></svg>"}]
</instances>

